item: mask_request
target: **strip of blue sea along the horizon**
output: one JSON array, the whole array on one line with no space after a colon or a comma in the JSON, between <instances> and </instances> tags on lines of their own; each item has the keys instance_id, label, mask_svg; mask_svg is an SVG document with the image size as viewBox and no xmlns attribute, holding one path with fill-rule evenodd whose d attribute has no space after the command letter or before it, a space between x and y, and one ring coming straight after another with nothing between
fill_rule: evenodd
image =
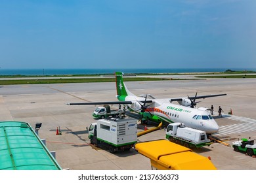
<instances>
[{"instance_id":1,"label":"strip of blue sea along the horizon","mask_svg":"<svg viewBox=\"0 0 256 183\"><path fill-rule=\"evenodd\" d=\"M232 71L256 71L248 68L227 68ZM0 67L0 75L24 75L24 76L45 76L45 75L104 75L114 74L116 71L124 74L139 73L209 73L224 72L227 69L204 68L204 69L3 69Z\"/></svg>"}]
</instances>

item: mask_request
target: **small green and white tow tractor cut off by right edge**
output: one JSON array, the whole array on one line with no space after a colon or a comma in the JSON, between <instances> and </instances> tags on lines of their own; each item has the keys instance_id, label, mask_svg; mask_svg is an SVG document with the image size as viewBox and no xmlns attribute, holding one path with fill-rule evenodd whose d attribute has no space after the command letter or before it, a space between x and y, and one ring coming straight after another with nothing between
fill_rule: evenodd
<instances>
[{"instance_id":1,"label":"small green and white tow tractor cut off by right edge","mask_svg":"<svg viewBox=\"0 0 256 183\"><path fill-rule=\"evenodd\" d=\"M254 144L254 140L250 140L250 139L242 139L242 141L238 140L238 141L232 142L232 147L236 152L242 151L249 156L256 155L256 144Z\"/></svg>"}]
</instances>

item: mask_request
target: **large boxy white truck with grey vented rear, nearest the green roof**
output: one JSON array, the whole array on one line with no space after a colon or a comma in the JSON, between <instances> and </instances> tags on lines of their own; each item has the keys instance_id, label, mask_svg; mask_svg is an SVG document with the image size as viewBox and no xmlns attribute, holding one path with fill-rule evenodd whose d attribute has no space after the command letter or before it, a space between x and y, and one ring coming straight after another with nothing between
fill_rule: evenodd
<instances>
[{"instance_id":1,"label":"large boxy white truck with grey vented rear, nearest the green roof","mask_svg":"<svg viewBox=\"0 0 256 183\"><path fill-rule=\"evenodd\" d=\"M91 144L106 147L111 153L130 150L137 142L137 120L134 118L100 119L87 130Z\"/></svg>"}]
</instances>

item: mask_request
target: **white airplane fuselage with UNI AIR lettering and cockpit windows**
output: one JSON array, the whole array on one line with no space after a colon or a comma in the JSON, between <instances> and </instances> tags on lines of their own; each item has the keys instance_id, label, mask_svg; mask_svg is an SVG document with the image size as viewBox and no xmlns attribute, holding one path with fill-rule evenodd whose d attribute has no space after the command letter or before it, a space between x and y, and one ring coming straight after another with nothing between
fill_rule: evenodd
<instances>
[{"instance_id":1,"label":"white airplane fuselage with UNI AIR lettering and cockpit windows","mask_svg":"<svg viewBox=\"0 0 256 183\"><path fill-rule=\"evenodd\" d=\"M140 112L141 103L139 103L139 101L143 101L143 97L128 95L125 97L125 101L126 100L134 101L133 104L129 105L129 108ZM148 120L169 123L179 122L187 127L200 129L206 133L216 133L219 130L217 122L204 110L175 105L170 103L167 99L152 99L151 105L150 103L147 105L148 107L143 116L144 118L148 118Z\"/></svg>"}]
</instances>

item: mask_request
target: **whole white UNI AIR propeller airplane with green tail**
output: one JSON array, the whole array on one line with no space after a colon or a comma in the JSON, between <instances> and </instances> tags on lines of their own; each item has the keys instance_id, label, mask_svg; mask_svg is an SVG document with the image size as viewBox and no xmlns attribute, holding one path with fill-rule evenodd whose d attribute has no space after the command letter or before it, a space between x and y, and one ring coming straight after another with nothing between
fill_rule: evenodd
<instances>
[{"instance_id":1,"label":"whole white UNI AIR propeller airplane with green tail","mask_svg":"<svg viewBox=\"0 0 256 183\"><path fill-rule=\"evenodd\" d=\"M226 94L202 95L195 97L181 97L170 99L156 99L152 95L135 95L131 93L123 82L123 73L116 72L116 90L119 101L92 102L92 103L68 103L68 105L125 105L133 112L141 114L142 121L153 122L179 122L187 127L200 129L206 133L216 133L219 125L206 111L206 108L194 108L196 99L217 97ZM172 103L177 101L179 105Z\"/></svg>"}]
</instances>

